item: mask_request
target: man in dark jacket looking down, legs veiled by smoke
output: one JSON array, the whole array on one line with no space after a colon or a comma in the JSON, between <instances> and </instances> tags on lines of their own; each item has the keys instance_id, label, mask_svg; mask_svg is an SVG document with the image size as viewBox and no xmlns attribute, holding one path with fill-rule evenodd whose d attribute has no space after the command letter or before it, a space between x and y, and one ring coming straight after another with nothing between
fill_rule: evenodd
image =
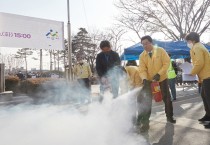
<instances>
[{"instance_id":1,"label":"man in dark jacket looking down, legs veiled by smoke","mask_svg":"<svg viewBox=\"0 0 210 145\"><path fill-rule=\"evenodd\" d=\"M101 52L96 57L96 71L98 73L101 85L101 94L105 91L104 82L108 82L111 86L113 98L118 97L119 91L119 54L111 49L109 41L104 40L100 43ZM103 96L101 96L103 99Z\"/></svg>"}]
</instances>

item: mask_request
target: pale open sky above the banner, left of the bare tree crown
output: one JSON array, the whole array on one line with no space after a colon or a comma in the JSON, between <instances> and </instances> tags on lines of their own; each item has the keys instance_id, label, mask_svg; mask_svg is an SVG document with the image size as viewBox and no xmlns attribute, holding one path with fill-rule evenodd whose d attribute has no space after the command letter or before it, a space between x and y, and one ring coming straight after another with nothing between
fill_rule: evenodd
<instances>
[{"instance_id":1,"label":"pale open sky above the banner, left of the bare tree crown","mask_svg":"<svg viewBox=\"0 0 210 145\"><path fill-rule=\"evenodd\" d=\"M114 0L69 0L72 32L78 28L102 29L113 23ZM67 0L0 0L0 11L63 21L67 24Z\"/></svg>"}]
</instances>

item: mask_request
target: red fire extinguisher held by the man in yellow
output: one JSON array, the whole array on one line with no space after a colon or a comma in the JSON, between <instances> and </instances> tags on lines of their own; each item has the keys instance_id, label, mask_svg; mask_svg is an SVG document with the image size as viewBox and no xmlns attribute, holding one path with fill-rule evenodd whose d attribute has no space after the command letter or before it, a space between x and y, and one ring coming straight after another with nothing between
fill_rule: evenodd
<instances>
[{"instance_id":1,"label":"red fire extinguisher held by the man in yellow","mask_svg":"<svg viewBox=\"0 0 210 145\"><path fill-rule=\"evenodd\" d=\"M160 90L159 82L154 82L153 81L151 83L151 89L152 89L152 94L153 94L155 102L162 101L162 93L161 93L161 90Z\"/></svg>"}]
</instances>

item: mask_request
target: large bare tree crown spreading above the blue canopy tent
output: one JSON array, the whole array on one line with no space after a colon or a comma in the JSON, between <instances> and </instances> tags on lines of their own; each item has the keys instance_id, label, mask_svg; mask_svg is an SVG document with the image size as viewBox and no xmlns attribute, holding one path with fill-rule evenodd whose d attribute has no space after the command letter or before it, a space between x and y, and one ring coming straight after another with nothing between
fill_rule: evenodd
<instances>
[{"instance_id":1,"label":"large bare tree crown spreading above the blue canopy tent","mask_svg":"<svg viewBox=\"0 0 210 145\"><path fill-rule=\"evenodd\" d=\"M194 31L202 35L210 25L210 0L119 0L119 21L134 32L162 32L167 39L182 40Z\"/></svg>"}]
</instances>

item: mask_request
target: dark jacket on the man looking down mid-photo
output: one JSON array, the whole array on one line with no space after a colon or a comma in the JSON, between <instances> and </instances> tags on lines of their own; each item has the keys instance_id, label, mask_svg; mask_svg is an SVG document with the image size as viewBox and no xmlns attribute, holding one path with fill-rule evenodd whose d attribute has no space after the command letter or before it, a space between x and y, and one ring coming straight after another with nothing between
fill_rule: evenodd
<instances>
[{"instance_id":1,"label":"dark jacket on the man looking down mid-photo","mask_svg":"<svg viewBox=\"0 0 210 145\"><path fill-rule=\"evenodd\" d=\"M120 66L120 57L118 53L110 51L109 53L100 52L96 57L96 71L99 77L107 74L115 66Z\"/></svg>"}]
</instances>

